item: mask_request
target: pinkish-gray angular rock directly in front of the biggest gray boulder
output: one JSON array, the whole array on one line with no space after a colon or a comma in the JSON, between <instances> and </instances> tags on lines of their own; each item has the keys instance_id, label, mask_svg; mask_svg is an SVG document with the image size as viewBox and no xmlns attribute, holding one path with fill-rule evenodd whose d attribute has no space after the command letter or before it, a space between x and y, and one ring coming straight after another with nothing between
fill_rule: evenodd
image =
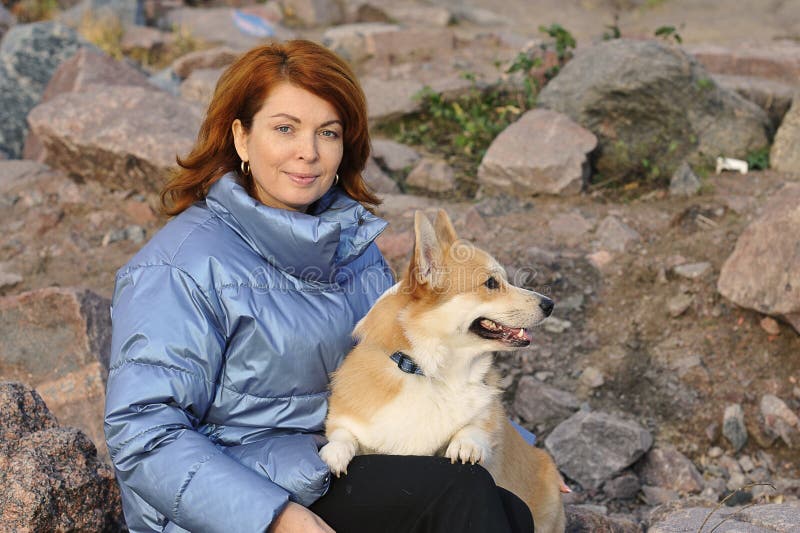
<instances>
[{"instance_id":1,"label":"pinkish-gray angular rock directly in front of the biggest gray boulder","mask_svg":"<svg viewBox=\"0 0 800 533\"><path fill-rule=\"evenodd\" d=\"M478 181L488 193L578 194L589 177L587 156L596 146L597 138L566 115L534 109L492 142Z\"/></svg>"}]
</instances>

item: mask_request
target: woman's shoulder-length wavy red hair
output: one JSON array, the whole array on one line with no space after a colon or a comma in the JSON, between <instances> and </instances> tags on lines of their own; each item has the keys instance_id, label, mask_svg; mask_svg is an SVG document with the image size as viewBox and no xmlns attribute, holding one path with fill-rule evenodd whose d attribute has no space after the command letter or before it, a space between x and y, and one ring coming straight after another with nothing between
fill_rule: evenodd
<instances>
[{"instance_id":1,"label":"woman's shoulder-length wavy red hair","mask_svg":"<svg viewBox=\"0 0 800 533\"><path fill-rule=\"evenodd\" d=\"M305 89L334 107L344 130L339 187L367 208L381 203L361 174L369 157L369 129L366 98L355 74L324 46L294 40L253 48L222 74L192 151L177 158L180 168L161 190L166 214L177 215L205 198L212 184L239 169L231 125L238 118L249 132L264 100L282 82ZM252 177L241 179L253 195Z\"/></svg>"}]
</instances>

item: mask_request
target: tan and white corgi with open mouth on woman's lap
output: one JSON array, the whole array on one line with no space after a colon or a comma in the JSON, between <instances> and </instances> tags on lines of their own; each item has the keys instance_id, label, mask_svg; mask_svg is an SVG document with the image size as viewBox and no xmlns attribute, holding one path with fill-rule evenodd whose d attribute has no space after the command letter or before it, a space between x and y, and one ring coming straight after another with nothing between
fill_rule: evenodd
<instances>
[{"instance_id":1,"label":"tan and white corgi with open mouth on woman's lap","mask_svg":"<svg viewBox=\"0 0 800 533\"><path fill-rule=\"evenodd\" d=\"M337 476L356 454L480 463L527 503L537 532L563 532L569 489L511 425L492 365L492 352L531 343L553 302L511 285L443 210L435 227L418 211L414 232L406 276L356 325L358 344L332 375L320 456Z\"/></svg>"}]
</instances>

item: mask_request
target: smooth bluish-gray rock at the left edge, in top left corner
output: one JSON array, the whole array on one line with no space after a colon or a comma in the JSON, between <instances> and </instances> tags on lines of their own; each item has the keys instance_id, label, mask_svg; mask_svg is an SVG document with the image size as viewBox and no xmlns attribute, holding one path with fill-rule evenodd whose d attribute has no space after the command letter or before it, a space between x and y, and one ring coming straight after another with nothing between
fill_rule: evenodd
<instances>
[{"instance_id":1,"label":"smooth bluish-gray rock at the left edge, in top left corner","mask_svg":"<svg viewBox=\"0 0 800 533\"><path fill-rule=\"evenodd\" d=\"M20 24L0 42L0 152L19 158L28 133L25 117L39 102L58 66L86 45L55 22Z\"/></svg>"}]
</instances>

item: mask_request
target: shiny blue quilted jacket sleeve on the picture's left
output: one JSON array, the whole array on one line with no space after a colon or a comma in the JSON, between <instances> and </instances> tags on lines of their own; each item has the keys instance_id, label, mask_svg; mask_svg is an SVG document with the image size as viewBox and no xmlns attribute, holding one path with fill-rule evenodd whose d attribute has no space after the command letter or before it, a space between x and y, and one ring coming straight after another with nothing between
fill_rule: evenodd
<instances>
[{"instance_id":1,"label":"shiny blue quilted jacket sleeve on the picture's left","mask_svg":"<svg viewBox=\"0 0 800 533\"><path fill-rule=\"evenodd\" d=\"M225 337L212 299L183 271L120 274L112 300L105 434L120 484L190 531L263 532L288 493L196 431Z\"/></svg>"}]
</instances>

